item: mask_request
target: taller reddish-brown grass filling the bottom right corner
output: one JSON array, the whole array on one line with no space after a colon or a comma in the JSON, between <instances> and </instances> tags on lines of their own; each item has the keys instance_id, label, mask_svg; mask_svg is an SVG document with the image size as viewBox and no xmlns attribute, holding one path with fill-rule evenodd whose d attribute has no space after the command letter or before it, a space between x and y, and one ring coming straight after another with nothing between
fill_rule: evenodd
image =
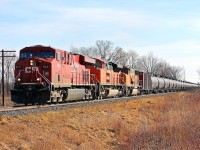
<instances>
[{"instance_id":1,"label":"taller reddish-brown grass filling the bottom right corner","mask_svg":"<svg viewBox=\"0 0 200 150\"><path fill-rule=\"evenodd\" d=\"M199 91L166 97L160 116L128 135L126 149L200 149Z\"/></svg>"}]
</instances>

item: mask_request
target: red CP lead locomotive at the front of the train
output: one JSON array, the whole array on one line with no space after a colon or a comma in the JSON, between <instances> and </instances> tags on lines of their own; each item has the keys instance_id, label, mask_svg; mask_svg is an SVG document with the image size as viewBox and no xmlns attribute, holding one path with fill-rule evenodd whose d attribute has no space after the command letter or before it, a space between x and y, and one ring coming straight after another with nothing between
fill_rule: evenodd
<instances>
[{"instance_id":1,"label":"red CP lead locomotive at the front of the train","mask_svg":"<svg viewBox=\"0 0 200 150\"><path fill-rule=\"evenodd\" d=\"M45 103L91 96L90 65L95 60L45 46L25 47L15 64L15 103Z\"/></svg>"}]
</instances>

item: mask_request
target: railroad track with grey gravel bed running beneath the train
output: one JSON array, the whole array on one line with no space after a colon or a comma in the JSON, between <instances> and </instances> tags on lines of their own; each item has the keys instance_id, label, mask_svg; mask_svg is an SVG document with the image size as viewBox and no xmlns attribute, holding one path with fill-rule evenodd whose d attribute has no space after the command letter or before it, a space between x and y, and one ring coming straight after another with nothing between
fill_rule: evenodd
<instances>
[{"instance_id":1,"label":"railroad track with grey gravel bed running beneath the train","mask_svg":"<svg viewBox=\"0 0 200 150\"><path fill-rule=\"evenodd\" d=\"M122 102L122 101L129 101L129 100L137 100L141 98L148 98L148 97L155 97L161 95L172 94L171 93L159 93L159 94L150 94L150 95L140 95L140 96L132 96L132 97L119 97L119 98L112 98L112 99L101 99L101 100L90 100L90 101L78 101L78 102L67 102L67 103L60 103L60 104L46 104L44 106L24 106L24 107L11 107L0 109L0 116L20 116L20 115L28 115L33 113L39 112L48 112L48 111L59 111L69 108L78 108L84 106L92 106L97 104L109 104L114 102Z\"/></svg>"}]
</instances>

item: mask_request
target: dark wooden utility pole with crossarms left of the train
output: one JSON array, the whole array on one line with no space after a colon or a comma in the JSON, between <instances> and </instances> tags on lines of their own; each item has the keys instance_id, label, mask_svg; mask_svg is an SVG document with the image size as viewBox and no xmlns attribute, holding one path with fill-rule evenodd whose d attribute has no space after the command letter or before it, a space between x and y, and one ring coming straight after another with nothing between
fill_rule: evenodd
<instances>
[{"instance_id":1,"label":"dark wooden utility pole with crossarms left of the train","mask_svg":"<svg viewBox=\"0 0 200 150\"><path fill-rule=\"evenodd\" d=\"M4 58L5 57L16 57L15 55L13 55L13 56L5 56L4 55L4 52L16 52L16 51L4 51L3 49L2 49L2 51L1 51L1 56L0 57L2 57L2 106L4 106L5 105L5 101L4 101L4 98L5 98L5 95L4 95Z\"/></svg>"}]
</instances>

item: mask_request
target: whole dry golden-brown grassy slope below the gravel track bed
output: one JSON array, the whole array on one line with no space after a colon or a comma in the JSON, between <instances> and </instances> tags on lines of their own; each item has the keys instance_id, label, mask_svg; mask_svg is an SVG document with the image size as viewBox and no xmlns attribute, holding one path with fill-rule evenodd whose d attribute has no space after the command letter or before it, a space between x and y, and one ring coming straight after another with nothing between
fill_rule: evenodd
<instances>
[{"instance_id":1,"label":"whole dry golden-brown grassy slope below the gravel track bed","mask_svg":"<svg viewBox=\"0 0 200 150\"><path fill-rule=\"evenodd\" d=\"M200 93L0 117L0 149L200 149Z\"/></svg>"}]
</instances>

